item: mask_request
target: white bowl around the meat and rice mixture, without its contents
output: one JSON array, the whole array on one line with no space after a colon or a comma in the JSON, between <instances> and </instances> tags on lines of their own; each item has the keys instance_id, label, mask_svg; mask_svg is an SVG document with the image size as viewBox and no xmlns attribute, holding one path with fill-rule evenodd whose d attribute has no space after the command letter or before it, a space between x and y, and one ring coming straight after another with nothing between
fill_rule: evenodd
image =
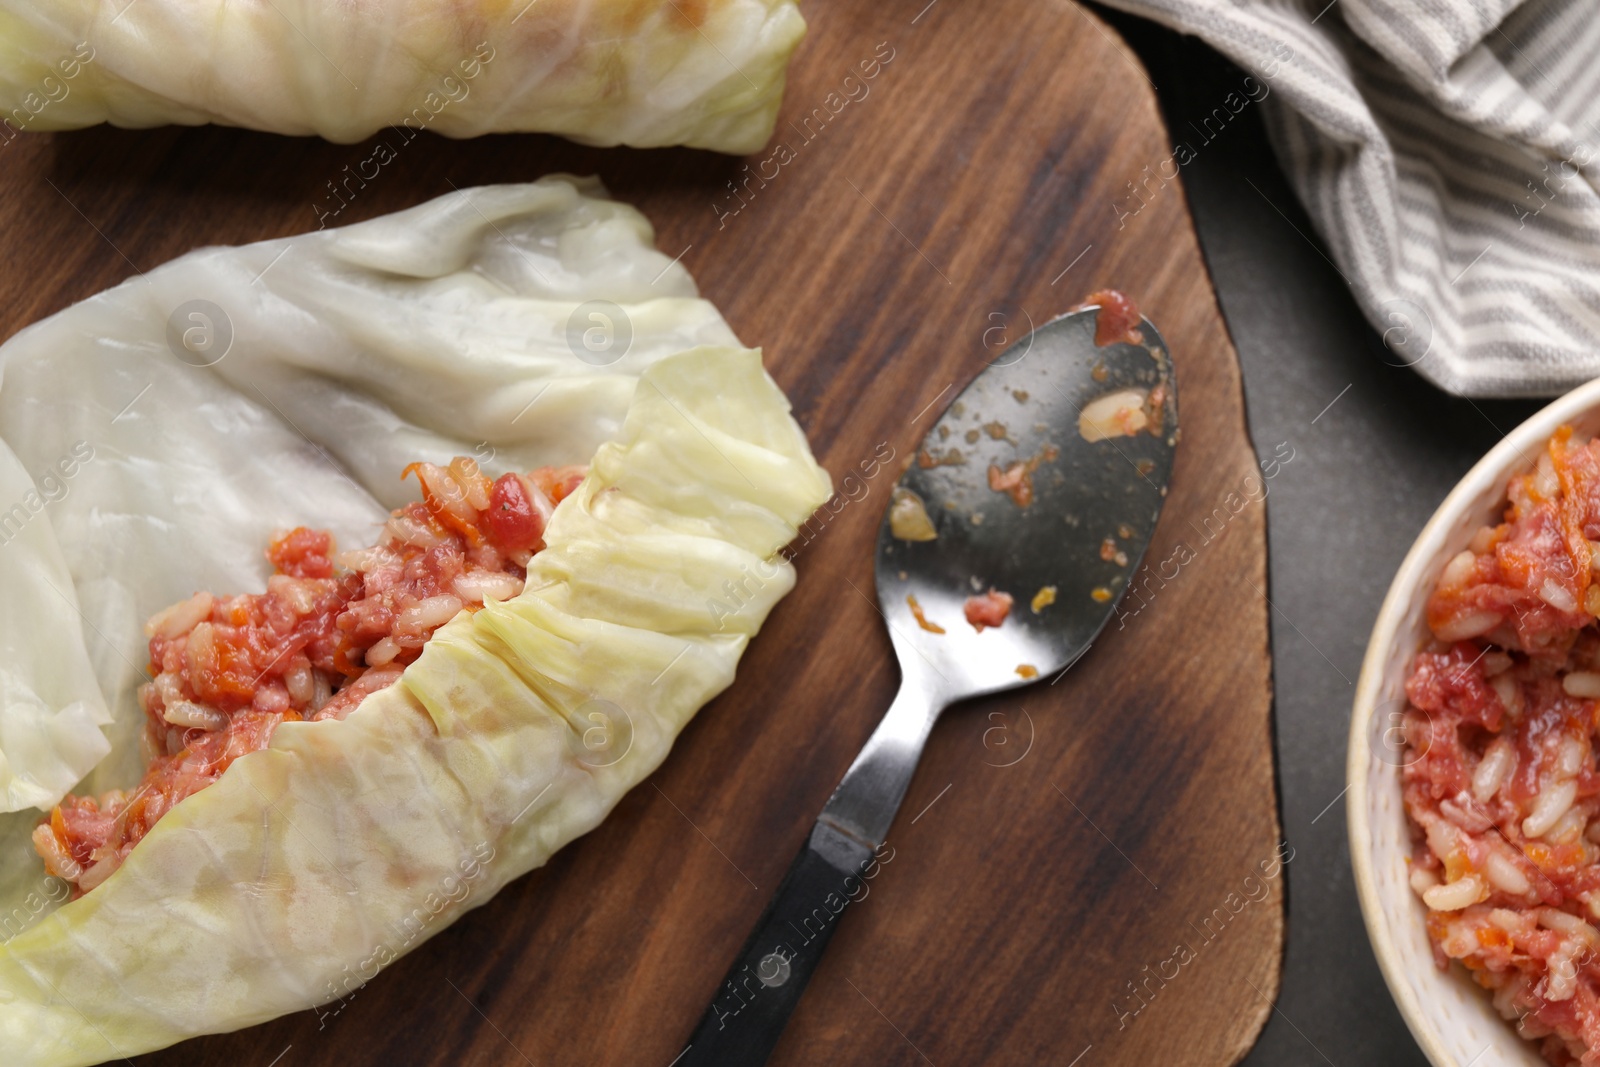
<instances>
[{"instance_id":1,"label":"white bowl around the meat and rice mixture, without its contents","mask_svg":"<svg viewBox=\"0 0 1600 1067\"><path fill-rule=\"evenodd\" d=\"M1579 386L1518 426L1451 490L1406 553L1366 645L1350 717L1350 859L1366 933L1389 992L1434 1067L1547 1067L1459 966L1440 971L1424 929L1427 912L1408 885L1411 835L1400 801L1400 752L1389 733L1405 707L1411 656L1427 640L1422 609L1450 557L1474 531L1499 522L1506 482L1531 467L1562 424L1600 434L1600 379Z\"/></svg>"}]
</instances>

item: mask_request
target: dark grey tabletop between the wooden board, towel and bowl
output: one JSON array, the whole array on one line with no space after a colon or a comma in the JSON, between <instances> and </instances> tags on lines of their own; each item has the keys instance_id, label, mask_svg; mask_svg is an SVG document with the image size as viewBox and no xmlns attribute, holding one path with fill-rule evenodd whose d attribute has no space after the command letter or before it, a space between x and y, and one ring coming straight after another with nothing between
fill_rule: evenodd
<instances>
[{"instance_id":1,"label":"dark grey tabletop between the wooden board, towel and bowl","mask_svg":"<svg viewBox=\"0 0 1600 1067\"><path fill-rule=\"evenodd\" d=\"M1144 61L1174 138L1245 77L1197 38L1096 11ZM1541 405L1453 398L1395 366L1294 200L1258 110L1182 168L1256 451L1288 442L1296 453L1267 499L1278 797L1296 848L1288 952L1280 998L1243 1062L1421 1067L1355 901L1341 798L1350 699L1378 606L1422 523Z\"/></svg>"}]
</instances>

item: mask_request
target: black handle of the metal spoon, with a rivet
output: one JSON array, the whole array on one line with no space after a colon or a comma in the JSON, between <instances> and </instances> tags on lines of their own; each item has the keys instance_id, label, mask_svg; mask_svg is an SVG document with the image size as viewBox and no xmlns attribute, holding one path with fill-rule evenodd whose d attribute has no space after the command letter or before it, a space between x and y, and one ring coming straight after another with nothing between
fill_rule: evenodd
<instances>
[{"instance_id":1,"label":"black handle of the metal spoon, with a rivet","mask_svg":"<svg viewBox=\"0 0 1600 1067\"><path fill-rule=\"evenodd\" d=\"M760 1067L778 1046L874 849L816 821L674 1067Z\"/></svg>"}]
</instances>

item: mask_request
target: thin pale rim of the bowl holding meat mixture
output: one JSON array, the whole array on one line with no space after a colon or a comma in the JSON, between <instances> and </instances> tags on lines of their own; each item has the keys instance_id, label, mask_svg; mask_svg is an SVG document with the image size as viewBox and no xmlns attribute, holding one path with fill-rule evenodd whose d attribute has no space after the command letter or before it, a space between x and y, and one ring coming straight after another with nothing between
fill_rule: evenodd
<instances>
[{"instance_id":1,"label":"thin pale rim of the bowl holding meat mixture","mask_svg":"<svg viewBox=\"0 0 1600 1067\"><path fill-rule=\"evenodd\" d=\"M1454 485L1422 526L1411 549L1395 571L1389 592L1384 593L1378 619L1362 657L1362 673L1355 681L1355 701L1350 707L1350 737L1346 758L1346 821L1349 824L1350 867L1355 875L1355 894L1362 905L1366 937L1378 957L1389 993L1400 1008L1411 1037L1435 1067L1459 1067L1445 1049L1429 1016L1422 1013L1416 990L1406 979L1406 968L1390 933L1379 902L1378 878L1373 862L1373 835L1368 824L1366 777L1371 760L1368 723L1378 705L1378 693L1384 681L1384 662L1394 646L1400 624L1411 606L1411 597L1424 587L1432 574L1424 573L1437 558L1450 530L1472 507L1485 488L1504 491L1507 478L1526 466L1526 458L1544 450L1546 442L1563 422L1600 408L1600 379L1589 381L1552 400L1506 434L1472 469ZM1485 416L1486 418L1486 416Z\"/></svg>"}]
</instances>

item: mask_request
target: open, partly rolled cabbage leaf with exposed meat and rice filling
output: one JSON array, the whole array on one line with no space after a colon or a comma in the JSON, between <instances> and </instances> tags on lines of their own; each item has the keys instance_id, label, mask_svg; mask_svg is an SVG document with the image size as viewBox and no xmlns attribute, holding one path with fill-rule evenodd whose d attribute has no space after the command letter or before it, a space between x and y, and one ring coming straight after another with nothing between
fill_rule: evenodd
<instances>
[{"instance_id":1,"label":"open, partly rolled cabbage leaf with exposed meat and rice filling","mask_svg":"<svg viewBox=\"0 0 1600 1067\"><path fill-rule=\"evenodd\" d=\"M14 776L109 749L62 825L85 798L128 814L64 837L54 814L0 816L19 1067L333 1001L546 862L731 683L792 587L779 549L830 491L760 354L637 211L566 178L192 253L18 334L0 371L0 486L62 488L0 549L48 579L16 587L35 632L0 672L62 720L59 749L0 745ZM405 565L442 531L461 566L389 605L416 609L394 646L307 643L296 678L238 637L274 597L363 614L395 581L366 581L384 561L363 553ZM219 665L250 701L189 699L184 672ZM218 758L216 715L270 721ZM134 813L141 776L190 747L205 781Z\"/></svg>"}]
</instances>

